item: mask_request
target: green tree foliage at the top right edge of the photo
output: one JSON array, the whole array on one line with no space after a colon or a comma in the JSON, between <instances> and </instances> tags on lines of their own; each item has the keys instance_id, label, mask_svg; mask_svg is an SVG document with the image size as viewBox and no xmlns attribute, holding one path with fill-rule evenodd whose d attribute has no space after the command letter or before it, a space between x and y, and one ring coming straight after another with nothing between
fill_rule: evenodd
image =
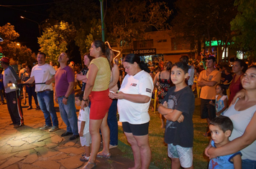
<instances>
[{"instance_id":1,"label":"green tree foliage at the top right edge of the photo","mask_svg":"<svg viewBox=\"0 0 256 169\"><path fill-rule=\"evenodd\" d=\"M256 60L256 0L236 0L237 16L231 21L234 48Z\"/></svg>"}]
</instances>

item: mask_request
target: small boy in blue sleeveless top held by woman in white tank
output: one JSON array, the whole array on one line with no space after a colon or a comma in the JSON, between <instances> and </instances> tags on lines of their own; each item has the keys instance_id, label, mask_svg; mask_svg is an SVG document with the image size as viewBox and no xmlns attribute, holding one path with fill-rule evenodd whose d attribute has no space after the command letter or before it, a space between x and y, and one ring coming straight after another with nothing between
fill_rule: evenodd
<instances>
[{"instance_id":1,"label":"small boy in blue sleeveless top held by woman in white tank","mask_svg":"<svg viewBox=\"0 0 256 169\"><path fill-rule=\"evenodd\" d=\"M211 144L214 148L219 148L229 143L229 136L233 130L233 123L226 116L219 116L211 120L209 129L211 131ZM219 156L212 158L209 163L209 169L226 168L237 169L242 168L242 153L237 152L232 155Z\"/></svg>"}]
</instances>

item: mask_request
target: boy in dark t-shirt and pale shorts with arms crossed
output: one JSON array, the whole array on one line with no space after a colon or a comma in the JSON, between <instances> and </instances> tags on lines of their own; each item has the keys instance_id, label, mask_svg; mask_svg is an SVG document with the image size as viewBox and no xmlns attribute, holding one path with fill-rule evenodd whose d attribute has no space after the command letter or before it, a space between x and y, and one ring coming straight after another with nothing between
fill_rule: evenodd
<instances>
[{"instance_id":1,"label":"boy in dark t-shirt and pale shorts with arms crossed","mask_svg":"<svg viewBox=\"0 0 256 169\"><path fill-rule=\"evenodd\" d=\"M193 168L193 111L195 97L185 80L188 65L183 62L173 64L170 79L175 87L168 90L158 112L166 118L165 143L171 168Z\"/></svg>"}]
</instances>

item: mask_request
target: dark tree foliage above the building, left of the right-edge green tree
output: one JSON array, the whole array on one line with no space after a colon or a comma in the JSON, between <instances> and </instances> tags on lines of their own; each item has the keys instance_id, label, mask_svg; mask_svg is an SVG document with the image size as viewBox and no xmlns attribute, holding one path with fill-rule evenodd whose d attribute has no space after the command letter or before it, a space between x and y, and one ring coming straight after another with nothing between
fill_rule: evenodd
<instances>
[{"instance_id":1,"label":"dark tree foliage above the building, left of the right-edge green tree","mask_svg":"<svg viewBox=\"0 0 256 169\"><path fill-rule=\"evenodd\" d=\"M231 42L230 21L237 14L234 0L178 0L178 11L172 21L176 36L191 37L194 42L217 40L219 46ZM211 45L211 44L210 44Z\"/></svg>"}]
</instances>

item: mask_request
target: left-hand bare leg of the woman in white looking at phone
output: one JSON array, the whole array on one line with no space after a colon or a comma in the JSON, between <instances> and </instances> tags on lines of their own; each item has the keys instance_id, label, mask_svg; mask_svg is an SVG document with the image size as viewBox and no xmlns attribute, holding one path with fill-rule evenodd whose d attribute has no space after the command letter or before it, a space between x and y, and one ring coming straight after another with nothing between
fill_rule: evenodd
<instances>
[{"instance_id":1,"label":"left-hand bare leg of the woman in white looking at phone","mask_svg":"<svg viewBox=\"0 0 256 169\"><path fill-rule=\"evenodd\" d=\"M141 160L140 160L140 148L137 145L137 140L135 140L134 136L130 132L124 132L127 136L128 143L132 146L132 153L134 157L134 167L131 169L139 169L141 168Z\"/></svg>"}]
</instances>

